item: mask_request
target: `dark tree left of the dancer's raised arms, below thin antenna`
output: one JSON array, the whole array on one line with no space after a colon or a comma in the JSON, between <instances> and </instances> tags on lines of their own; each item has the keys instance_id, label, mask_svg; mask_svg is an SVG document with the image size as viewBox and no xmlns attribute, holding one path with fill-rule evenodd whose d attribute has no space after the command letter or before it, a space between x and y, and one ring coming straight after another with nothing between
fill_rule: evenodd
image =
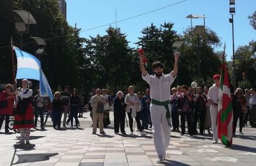
<instances>
[{"instance_id":1,"label":"dark tree left of the dancer's raised arms, below thin antenna","mask_svg":"<svg viewBox=\"0 0 256 166\"><path fill-rule=\"evenodd\" d=\"M125 34L118 33L113 27L109 27L106 33L85 41L85 54L93 70L92 86L108 87L113 91L126 89L134 65L132 49Z\"/></svg>"}]
</instances>

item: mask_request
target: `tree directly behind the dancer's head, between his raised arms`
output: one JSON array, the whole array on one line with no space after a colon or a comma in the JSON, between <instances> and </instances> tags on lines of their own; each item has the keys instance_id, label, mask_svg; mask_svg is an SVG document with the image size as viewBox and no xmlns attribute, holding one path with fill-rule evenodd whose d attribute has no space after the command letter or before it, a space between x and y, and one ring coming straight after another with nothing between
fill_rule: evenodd
<instances>
[{"instance_id":1,"label":"tree directly behind the dancer's head, between his raised arms","mask_svg":"<svg viewBox=\"0 0 256 166\"><path fill-rule=\"evenodd\" d=\"M143 36L138 38L139 41L136 44L145 50L148 59L146 66L148 72L152 72L151 64L154 61L164 63L165 72L172 71L174 64L172 44L178 38L176 31L173 30L173 25L173 23L164 22L160 27L156 27L151 24L141 31Z\"/></svg>"}]
</instances>

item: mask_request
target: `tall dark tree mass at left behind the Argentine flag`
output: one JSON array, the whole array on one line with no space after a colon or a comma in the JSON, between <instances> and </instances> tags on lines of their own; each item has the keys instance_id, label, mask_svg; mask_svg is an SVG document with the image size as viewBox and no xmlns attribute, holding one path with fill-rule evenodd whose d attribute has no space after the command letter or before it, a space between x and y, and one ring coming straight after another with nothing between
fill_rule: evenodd
<instances>
[{"instance_id":1,"label":"tall dark tree mass at left behind the Argentine flag","mask_svg":"<svg viewBox=\"0 0 256 166\"><path fill-rule=\"evenodd\" d=\"M79 37L81 29L75 29L69 26L63 18L58 8L56 0L41 1L21 1L21 0L3 0L0 2L1 25L4 32L1 33L0 45L10 45L10 36L13 36L14 45L20 47L20 35L15 33L15 13L12 10L27 10L35 17L36 25L29 26L29 34L23 35L23 46L25 50L35 55L35 43L30 43L30 36L39 36L45 38L45 54L36 55L42 61L42 68L51 85L52 89L70 85L71 87L81 87L84 77L88 77L84 72L84 66L89 61L84 57L83 42L84 38ZM3 16L3 17L2 17ZM3 18L3 19L2 19ZM52 39L52 40L51 40ZM4 69L1 78L6 82L12 82L10 75L10 48L3 52L4 57L8 57L8 63L1 64ZM0 73L2 74L2 73Z\"/></svg>"}]
</instances>

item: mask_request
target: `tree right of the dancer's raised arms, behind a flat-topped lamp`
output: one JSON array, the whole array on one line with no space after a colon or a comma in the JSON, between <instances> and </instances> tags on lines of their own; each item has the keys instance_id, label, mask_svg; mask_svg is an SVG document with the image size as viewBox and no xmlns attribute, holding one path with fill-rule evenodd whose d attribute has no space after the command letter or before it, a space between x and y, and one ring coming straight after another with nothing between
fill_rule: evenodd
<instances>
[{"instance_id":1,"label":"tree right of the dancer's raised arms, behind a flat-topped lamp","mask_svg":"<svg viewBox=\"0 0 256 166\"><path fill-rule=\"evenodd\" d=\"M195 36L190 29L186 29L182 35L185 41L183 54L180 59L180 80L190 84L198 80L199 85L208 84L207 80L216 73L220 73L220 56L214 51L220 46L220 38L209 28L205 29L204 36ZM198 72L198 57L200 72ZM200 73L200 75L198 75Z\"/></svg>"}]
</instances>

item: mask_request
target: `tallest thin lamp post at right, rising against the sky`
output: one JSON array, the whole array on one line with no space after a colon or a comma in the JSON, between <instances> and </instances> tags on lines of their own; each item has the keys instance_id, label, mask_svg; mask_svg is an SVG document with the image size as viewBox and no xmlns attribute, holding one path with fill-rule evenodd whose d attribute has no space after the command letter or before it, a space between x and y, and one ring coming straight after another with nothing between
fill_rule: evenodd
<instances>
[{"instance_id":1,"label":"tallest thin lamp post at right, rising against the sky","mask_svg":"<svg viewBox=\"0 0 256 166\"><path fill-rule=\"evenodd\" d=\"M234 14L236 14L235 8L235 0L229 1L229 13L231 15L231 19L229 22L232 24L232 49L233 49L233 84L234 89L236 89L236 64L235 64L235 41L234 41Z\"/></svg>"}]
</instances>

